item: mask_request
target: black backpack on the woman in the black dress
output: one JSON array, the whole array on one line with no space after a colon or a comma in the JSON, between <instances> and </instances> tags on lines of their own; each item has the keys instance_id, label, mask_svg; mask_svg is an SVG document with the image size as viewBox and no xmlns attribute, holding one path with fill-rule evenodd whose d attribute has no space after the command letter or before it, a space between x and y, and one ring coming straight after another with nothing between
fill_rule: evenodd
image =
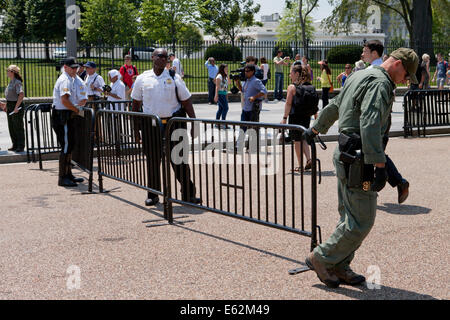
<instances>
[{"instance_id":1,"label":"black backpack on the woman in the black dress","mask_svg":"<svg viewBox=\"0 0 450 320\"><path fill-rule=\"evenodd\" d=\"M319 95L313 85L295 86L295 96L292 101L294 114L311 117L319 111Z\"/></svg>"}]
</instances>

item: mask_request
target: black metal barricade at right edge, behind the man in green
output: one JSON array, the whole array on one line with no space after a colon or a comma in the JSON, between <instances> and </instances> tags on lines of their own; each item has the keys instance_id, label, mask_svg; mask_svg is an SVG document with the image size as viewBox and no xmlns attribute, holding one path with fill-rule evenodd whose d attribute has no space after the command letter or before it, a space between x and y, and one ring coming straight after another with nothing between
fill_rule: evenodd
<instances>
[{"instance_id":1,"label":"black metal barricade at right edge, behind the man in green","mask_svg":"<svg viewBox=\"0 0 450 320\"><path fill-rule=\"evenodd\" d=\"M450 126L450 90L410 90L403 98L404 136L426 135L427 127Z\"/></svg>"}]
</instances>

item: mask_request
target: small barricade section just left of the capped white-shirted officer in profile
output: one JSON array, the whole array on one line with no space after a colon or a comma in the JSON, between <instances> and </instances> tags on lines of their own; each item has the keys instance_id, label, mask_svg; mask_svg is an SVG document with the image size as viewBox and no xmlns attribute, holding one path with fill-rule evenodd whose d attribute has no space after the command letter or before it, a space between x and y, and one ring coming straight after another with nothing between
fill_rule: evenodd
<instances>
[{"instance_id":1,"label":"small barricade section just left of the capped white-shirted officer in profile","mask_svg":"<svg viewBox=\"0 0 450 320\"><path fill-rule=\"evenodd\" d=\"M35 162L37 153L41 170L42 155L61 150L52 128L51 109L51 103L41 103L30 105L25 111L27 160Z\"/></svg>"}]
</instances>

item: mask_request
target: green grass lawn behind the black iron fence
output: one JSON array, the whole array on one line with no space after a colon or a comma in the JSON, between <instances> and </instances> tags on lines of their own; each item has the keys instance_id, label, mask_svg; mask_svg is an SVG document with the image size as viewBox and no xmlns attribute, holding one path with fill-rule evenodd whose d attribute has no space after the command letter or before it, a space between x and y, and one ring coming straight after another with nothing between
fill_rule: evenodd
<instances>
[{"instance_id":1,"label":"green grass lawn behind the black iron fence","mask_svg":"<svg viewBox=\"0 0 450 320\"><path fill-rule=\"evenodd\" d=\"M111 59L100 59L92 58L90 59L97 63L99 66L99 73L103 76L105 81L107 81L107 73L111 68L120 68L122 60L117 59L114 61ZM207 92L207 70L204 66L205 61L203 59L181 59L185 73L185 82L191 92ZM222 61L218 61L217 64L220 65ZM224 62L228 64L229 70L234 70L240 67L239 63ZM27 97L50 97L53 93L53 85L58 78L59 73L56 71L56 62L44 62L38 59L0 59L0 89L4 92L9 79L6 76L6 68L11 65L16 64L22 70L22 75L25 82L25 90ZM145 70L152 68L152 62L150 60L139 60L134 61L138 71L142 73ZM310 62L313 68L314 80L313 84L316 88L320 89L320 82L317 81L317 77L320 75L319 65L317 61ZM267 89L273 90L275 86L275 68L272 61L269 61L269 66L271 68L272 78L269 80ZM332 70L332 81L335 88L339 88L340 85L337 83L336 77L344 71L344 64L331 64ZM431 76L433 75L435 67L432 67ZM284 67L284 86L286 89L290 83L289 79L289 68ZM435 85L435 83L432 83Z\"/></svg>"}]
</instances>

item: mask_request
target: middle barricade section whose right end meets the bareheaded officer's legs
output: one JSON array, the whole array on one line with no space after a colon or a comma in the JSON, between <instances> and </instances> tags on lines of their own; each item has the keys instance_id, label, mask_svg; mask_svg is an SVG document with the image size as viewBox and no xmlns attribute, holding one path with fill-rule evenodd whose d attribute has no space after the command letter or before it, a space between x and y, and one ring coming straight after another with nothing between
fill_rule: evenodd
<instances>
[{"instance_id":1,"label":"middle barricade section whose right end meets the bareheaded officer's legs","mask_svg":"<svg viewBox=\"0 0 450 320\"><path fill-rule=\"evenodd\" d=\"M104 192L105 177L165 197L166 170L159 117L99 109L95 122L100 192ZM153 165L158 161L162 169Z\"/></svg>"}]
</instances>

